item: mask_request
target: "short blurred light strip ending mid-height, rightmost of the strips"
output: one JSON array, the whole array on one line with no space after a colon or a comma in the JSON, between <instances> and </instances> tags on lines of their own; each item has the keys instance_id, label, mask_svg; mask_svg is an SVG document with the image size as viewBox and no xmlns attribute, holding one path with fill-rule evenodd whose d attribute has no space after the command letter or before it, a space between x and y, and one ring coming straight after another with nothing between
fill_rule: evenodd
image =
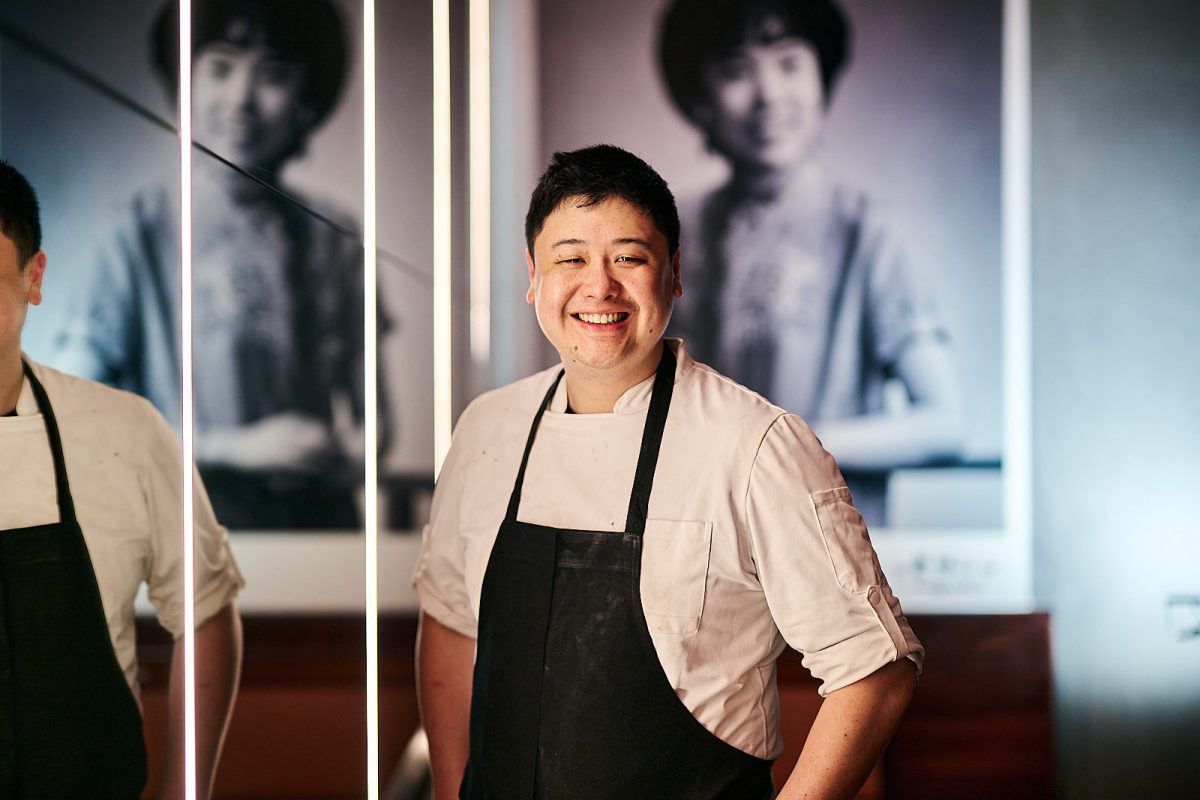
<instances>
[{"instance_id":1,"label":"short blurred light strip ending mid-height, rightmost of the strips","mask_svg":"<svg viewBox=\"0 0 1200 800\"><path fill-rule=\"evenodd\" d=\"M487 366L492 349L492 49L491 2L470 0L470 356Z\"/></svg>"}]
</instances>

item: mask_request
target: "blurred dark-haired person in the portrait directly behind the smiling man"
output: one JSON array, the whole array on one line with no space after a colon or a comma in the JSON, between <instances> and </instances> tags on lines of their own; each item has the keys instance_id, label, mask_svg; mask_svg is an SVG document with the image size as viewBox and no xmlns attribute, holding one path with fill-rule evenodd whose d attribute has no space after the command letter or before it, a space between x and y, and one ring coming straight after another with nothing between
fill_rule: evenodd
<instances>
[{"instance_id":1,"label":"blurred dark-haired person in the portrait directly behind the smiling man","mask_svg":"<svg viewBox=\"0 0 1200 800\"><path fill-rule=\"evenodd\" d=\"M882 524L892 469L961 456L962 408L929 287L880 204L824 157L850 42L833 0L668 5L664 82L730 168L724 185L680 204L689 296L673 330L696 357L808 420Z\"/></svg>"}]
</instances>

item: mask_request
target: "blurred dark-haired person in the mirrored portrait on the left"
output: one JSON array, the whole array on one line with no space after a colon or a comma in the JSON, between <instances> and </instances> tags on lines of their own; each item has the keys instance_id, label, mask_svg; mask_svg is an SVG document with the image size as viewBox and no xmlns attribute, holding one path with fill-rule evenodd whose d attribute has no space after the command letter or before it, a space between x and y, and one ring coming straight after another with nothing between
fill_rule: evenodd
<instances>
[{"instance_id":1,"label":"blurred dark-haired person in the mirrored portrait on the left","mask_svg":"<svg viewBox=\"0 0 1200 800\"><path fill-rule=\"evenodd\" d=\"M331 0L208 0L192 22L193 132L236 167L193 158L196 461L235 530L355 528L362 246L344 213L282 178L341 97L344 26ZM178 4L162 7L152 44L174 97ZM134 198L83 270L54 356L173 422L178 216L166 187Z\"/></svg>"}]
</instances>

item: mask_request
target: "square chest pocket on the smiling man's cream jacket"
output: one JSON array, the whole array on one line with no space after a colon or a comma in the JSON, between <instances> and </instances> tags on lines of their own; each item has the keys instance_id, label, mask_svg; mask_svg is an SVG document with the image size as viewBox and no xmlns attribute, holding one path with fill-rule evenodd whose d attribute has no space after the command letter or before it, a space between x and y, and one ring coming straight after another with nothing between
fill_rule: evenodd
<instances>
[{"instance_id":1,"label":"square chest pocket on the smiling man's cream jacket","mask_svg":"<svg viewBox=\"0 0 1200 800\"><path fill-rule=\"evenodd\" d=\"M695 633L704 612L713 523L647 519L642 610L652 633Z\"/></svg>"}]
</instances>

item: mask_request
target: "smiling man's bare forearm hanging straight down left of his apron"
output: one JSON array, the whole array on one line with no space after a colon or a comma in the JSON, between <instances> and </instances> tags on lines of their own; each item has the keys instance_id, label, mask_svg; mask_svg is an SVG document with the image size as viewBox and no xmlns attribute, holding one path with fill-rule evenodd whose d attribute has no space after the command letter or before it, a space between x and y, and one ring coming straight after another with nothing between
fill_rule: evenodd
<instances>
[{"instance_id":1,"label":"smiling man's bare forearm hanging straight down left of his apron","mask_svg":"<svg viewBox=\"0 0 1200 800\"><path fill-rule=\"evenodd\" d=\"M416 634L416 699L430 739L433 800L458 796L467 768L475 639L421 614Z\"/></svg>"}]
</instances>

